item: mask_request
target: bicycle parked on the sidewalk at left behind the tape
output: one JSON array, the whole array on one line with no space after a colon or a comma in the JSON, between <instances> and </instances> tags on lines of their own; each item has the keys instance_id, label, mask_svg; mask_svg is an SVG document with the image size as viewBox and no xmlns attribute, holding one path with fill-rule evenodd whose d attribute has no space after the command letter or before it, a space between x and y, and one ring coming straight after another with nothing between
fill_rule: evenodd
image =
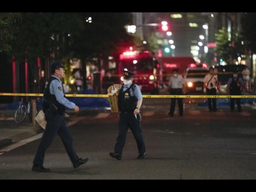
<instances>
[{"instance_id":1,"label":"bicycle parked on the sidewalk at left behind the tape","mask_svg":"<svg viewBox=\"0 0 256 192\"><path fill-rule=\"evenodd\" d=\"M16 123L22 123L26 116L28 116L30 123L32 123L32 101L29 100L28 103L26 104L23 102L23 98L21 98L19 107L15 110L14 113L14 121Z\"/></svg>"}]
</instances>

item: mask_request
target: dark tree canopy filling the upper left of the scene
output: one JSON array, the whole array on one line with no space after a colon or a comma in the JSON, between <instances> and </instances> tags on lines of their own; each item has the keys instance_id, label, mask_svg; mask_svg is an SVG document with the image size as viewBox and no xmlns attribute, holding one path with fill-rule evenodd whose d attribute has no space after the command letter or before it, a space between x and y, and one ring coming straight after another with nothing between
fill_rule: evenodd
<instances>
[{"instance_id":1,"label":"dark tree canopy filling the upper left of the scene","mask_svg":"<svg viewBox=\"0 0 256 192\"><path fill-rule=\"evenodd\" d=\"M53 59L95 57L117 50L121 44L130 45L132 36L125 25L131 24L131 13L6 13L10 30L2 35L6 51L17 60L34 60L37 57ZM0 17L1 23L4 19ZM92 18L92 22L88 22ZM7 27L6 27L7 28ZM12 29L12 30L11 30ZM2 32L3 33L3 32ZM12 48L12 49L11 49Z\"/></svg>"}]
</instances>

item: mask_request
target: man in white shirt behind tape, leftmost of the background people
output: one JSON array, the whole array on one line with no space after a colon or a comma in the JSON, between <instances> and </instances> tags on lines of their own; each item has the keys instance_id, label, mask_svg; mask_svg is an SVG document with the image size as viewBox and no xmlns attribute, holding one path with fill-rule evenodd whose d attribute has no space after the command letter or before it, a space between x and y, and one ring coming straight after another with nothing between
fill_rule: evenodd
<instances>
[{"instance_id":1,"label":"man in white shirt behind tape, leftmost of the background people","mask_svg":"<svg viewBox=\"0 0 256 192\"><path fill-rule=\"evenodd\" d=\"M170 95L182 95L186 93L186 84L184 78L178 74L178 69L173 69L173 75L169 78L168 88ZM176 100L178 102L180 117L183 116L183 98L170 99L170 112L169 116L174 116Z\"/></svg>"}]
</instances>

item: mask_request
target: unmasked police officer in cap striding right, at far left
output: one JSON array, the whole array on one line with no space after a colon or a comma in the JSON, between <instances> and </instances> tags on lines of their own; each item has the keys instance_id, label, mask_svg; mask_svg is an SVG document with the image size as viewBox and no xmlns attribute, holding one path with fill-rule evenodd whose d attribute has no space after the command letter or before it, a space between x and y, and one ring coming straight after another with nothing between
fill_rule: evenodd
<instances>
[{"instance_id":1,"label":"unmasked police officer in cap striding right, at far left","mask_svg":"<svg viewBox=\"0 0 256 192\"><path fill-rule=\"evenodd\" d=\"M43 164L46 150L50 147L56 133L61 137L74 168L88 161L88 158L82 159L77 156L73 147L72 134L65 122L65 109L74 109L75 112L78 112L79 108L65 97L64 88L60 80L64 77L65 70L60 61L52 63L51 74L52 76L46 82L42 99L42 108L47 123L33 160L32 171L36 172L50 171Z\"/></svg>"}]
</instances>

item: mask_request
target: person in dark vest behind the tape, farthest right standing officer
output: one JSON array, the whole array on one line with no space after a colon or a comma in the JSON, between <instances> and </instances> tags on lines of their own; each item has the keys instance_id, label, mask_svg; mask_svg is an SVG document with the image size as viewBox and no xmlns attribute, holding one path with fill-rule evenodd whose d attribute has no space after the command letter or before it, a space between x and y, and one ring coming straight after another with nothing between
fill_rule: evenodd
<instances>
[{"instance_id":1,"label":"person in dark vest behind the tape, farthest right standing officer","mask_svg":"<svg viewBox=\"0 0 256 192\"><path fill-rule=\"evenodd\" d=\"M241 92L244 88L244 81L241 77L238 77L238 71L233 71L233 77L229 78L227 83L227 91L230 93L230 95L241 95ZM241 112L241 98L230 98L230 108L231 111L234 111L235 108L235 101L237 105L237 111Z\"/></svg>"}]
</instances>

